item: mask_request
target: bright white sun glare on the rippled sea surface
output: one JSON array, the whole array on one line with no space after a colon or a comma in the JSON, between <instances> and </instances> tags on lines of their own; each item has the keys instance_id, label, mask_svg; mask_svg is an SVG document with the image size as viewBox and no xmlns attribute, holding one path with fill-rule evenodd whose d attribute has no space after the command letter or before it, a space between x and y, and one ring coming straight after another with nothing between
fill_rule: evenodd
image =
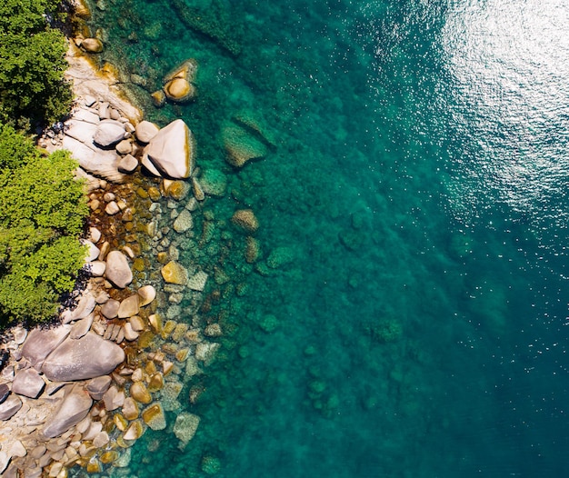
<instances>
[{"instance_id":1,"label":"bright white sun glare on the rippled sea surface","mask_svg":"<svg viewBox=\"0 0 569 478\"><path fill-rule=\"evenodd\" d=\"M569 177L567 25L569 9L555 0L460 2L448 12L447 81L460 98L449 106L461 128L454 134L484 153L453 158L466 176L453 185L462 208L476 209L480 196L472 188L480 187L514 211L542 214L545 207L566 218L551 199L565 194ZM456 191L464 179L471 187Z\"/></svg>"}]
</instances>

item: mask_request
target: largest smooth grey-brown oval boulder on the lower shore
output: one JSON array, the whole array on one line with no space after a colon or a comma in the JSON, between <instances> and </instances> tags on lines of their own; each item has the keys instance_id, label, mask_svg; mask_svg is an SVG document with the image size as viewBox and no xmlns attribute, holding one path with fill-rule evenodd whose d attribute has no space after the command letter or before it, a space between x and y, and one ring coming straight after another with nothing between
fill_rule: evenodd
<instances>
[{"instance_id":1,"label":"largest smooth grey-brown oval boulder on the lower shore","mask_svg":"<svg viewBox=\"0 0 569 478\"><path fill-rule=\"evenodd\" d=\"M113 372L125 360L125 352L94 332L80 339L66 339L44 362L42 372L54 382L85 380Z\"/></svg>"}]
</instances>

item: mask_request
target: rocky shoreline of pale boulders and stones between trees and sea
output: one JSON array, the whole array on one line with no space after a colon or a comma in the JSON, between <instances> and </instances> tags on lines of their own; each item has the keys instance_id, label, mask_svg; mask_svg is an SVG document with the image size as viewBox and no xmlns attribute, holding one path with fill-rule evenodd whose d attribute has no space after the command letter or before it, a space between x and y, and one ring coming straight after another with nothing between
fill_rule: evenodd
<instances>
[{"instance_id":1,"label":"rocky shoreline of pale boulders and stones between trees and sea","mask_svg":"<svg viewBox=\"0 0 569 478\"><path fill-rule=\"evenodd\" d=\"M162 129L142 121L115 91L112 70L95 71L73 44L68 60L74 111L39 145L68 149L80 164L92 210L83 239L89 278L62 324L8 331L10 359L0 376L6 477L65 477L81 473L75 465L133 476L129 447L148 428L169 426L184 447L199 417L182 411L179 394L213 359L222 335L220 324L197 316L208 274L179 262L181 238L192 234L207 194L191 132L182 120ZM176 321L184 294L192 297L185 305L192 324ZM199 394L191 390L190 401Z\"/></svg>"}]
</instances>

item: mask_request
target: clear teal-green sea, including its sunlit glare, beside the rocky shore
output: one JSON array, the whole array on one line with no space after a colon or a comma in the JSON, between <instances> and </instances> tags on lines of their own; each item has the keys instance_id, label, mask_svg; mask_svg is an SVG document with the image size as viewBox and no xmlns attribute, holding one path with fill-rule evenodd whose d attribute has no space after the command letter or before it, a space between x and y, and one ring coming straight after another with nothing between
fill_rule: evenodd
<instances>
[{"instance_id":1,"label":"clear teal-green sea, including its sunlit glare, beside the rocky shore","mask_svg":"<svg viewBox=\"0 0 569 478\"><path fill-rule=\"evenodd\" d=\"M202 420L184 450L146 432L133 473L568 475L564 0L92 5L146 118L184 118L228 183L192 253L226 332L183 392ZM197 100L156 109L187 58ZM237 170L242 116L269 145ZM229 221L244 207L256 265Z\"/></svg>"}]
</instances>

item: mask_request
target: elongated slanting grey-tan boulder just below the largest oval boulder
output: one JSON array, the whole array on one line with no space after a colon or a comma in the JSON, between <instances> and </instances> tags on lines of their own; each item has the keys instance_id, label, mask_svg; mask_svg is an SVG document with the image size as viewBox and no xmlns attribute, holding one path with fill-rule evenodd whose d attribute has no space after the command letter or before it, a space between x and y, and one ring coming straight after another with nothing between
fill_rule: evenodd
<instances>
[{"instance_id":1,"label":"elongated slanting grey-tan boulder just below the largest oval boulder","mask_svg":"<svg viewBox=\"0 0 569 478\"><path fill-rule=\"evenodd\" d=\"M45 437L55 438L81 422L91 410L92 404L89 393L81 385L70 388L55 415L45 423Z\"/></svg>"}]
</instances>

